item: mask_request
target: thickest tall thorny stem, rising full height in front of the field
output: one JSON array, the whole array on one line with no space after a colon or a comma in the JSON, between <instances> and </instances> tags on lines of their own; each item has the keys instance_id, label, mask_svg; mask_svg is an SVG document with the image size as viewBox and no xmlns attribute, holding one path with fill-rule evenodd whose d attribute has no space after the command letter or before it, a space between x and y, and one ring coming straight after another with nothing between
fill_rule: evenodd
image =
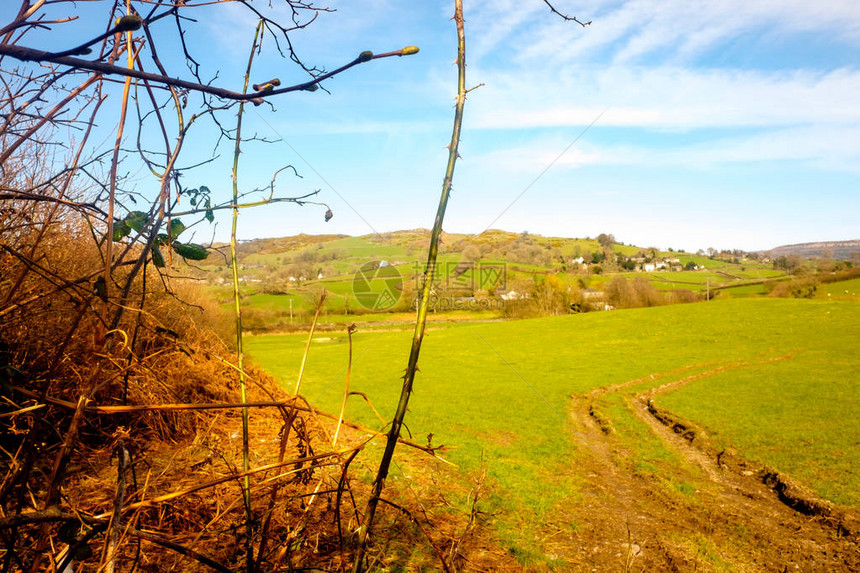
<instances>
[{"instance_id":1,"label":"thickest tall thorny stem, rising full height in front of the field","mask_svg":"<svg viewBox=\"0 0 860 573\"><path fill-rule=\"evenodd\" d=\"M421 352L421 341L424 339L424 330L427 325L427 310L430 305L430 289L432 278L435 273L436 257L439 253L439 237L442 234L442 221L445 218L445 209L448 206L448 198L451 194L451 182L454 178L454 166L457 163L457 148L460 144L460 129L463 124L463 107L466 103L466 33L463 27L463 0L454 1L454 21L457 25L457 104L454 111L454 127L451 131L451 143L448 145L448 166L445 169L445 178L442 181L442 195L439 198L439 208L436 211L436 220L433 223L433 231L430 235L430 248L427 252L427 265L424 268L424 281L421 288L421 299L418 305L418 316L415 321L415 331L412 335L412 348L409 352L409 363L403 376L403 386L400 392L400 401L397 411L391 421L388 438L385 443L385 451L379 463L379 470L373 482L370 499L364 519L359 527L358 548L355 554L354 573L361 573L364 568L364 556L367 549L367 540L373 527L373 518L376 507L385 487L385 479L388 477L388 469L394 456L394 448L400 437L400 429L406 416L406 408L409 405L409 397L412 394L412 384L415 373L418 371L418 355Z\"/></svg>"}]
</instances>

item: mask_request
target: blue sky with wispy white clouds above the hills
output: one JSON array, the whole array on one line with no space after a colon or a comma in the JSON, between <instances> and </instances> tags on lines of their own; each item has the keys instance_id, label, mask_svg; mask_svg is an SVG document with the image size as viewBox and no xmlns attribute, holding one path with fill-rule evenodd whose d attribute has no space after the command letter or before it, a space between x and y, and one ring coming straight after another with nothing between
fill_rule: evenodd
<instances>
[{"instance_id":1,"label":"blue sky with wispy white clouds above the hills","mask_svg":"<svg viewBox=\"0 0 860 573\"><path fill-rule=\"evenodd\" d=\"M860 238L860 3L554 2L586 28L541 0L465 4L467 82L484 86L466 104L447 231L605 232L687 250ZM251 109L246 133L279 141L245 146L242 186L291 164L303 178L282 176L280 192L320 189L335 217L264 207L242 215L243 238L432 224L456 89L453 4L325 5L336 12L294 36L306 63L421 52ZM254 24L238 6L201 19L190 40L216 84L240 86ZM258 65L257 80L303 79L273 56ZM229 166L186 184L226 197ZM219 218L215 238L228 231Z\"/></svg>"}]
</instances>

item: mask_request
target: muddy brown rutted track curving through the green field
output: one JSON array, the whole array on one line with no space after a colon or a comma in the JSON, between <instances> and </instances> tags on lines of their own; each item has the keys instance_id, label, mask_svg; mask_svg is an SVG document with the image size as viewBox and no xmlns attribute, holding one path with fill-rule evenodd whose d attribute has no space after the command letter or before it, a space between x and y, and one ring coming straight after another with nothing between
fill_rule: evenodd
<instances>
[{"instance_id":1,"label":"muddy brown rutted track curving through the green field","mask_svg":"<svg viewBox=\"0 0 860 573\"><path fill-rule=\"evenodd\" d=\"M703 432L651 405L747 364L699 364L571 397L585 483L566 509L576 530L555 548L570 570L860 571L856 512L798 504L785 492L802 486L781 487L778 475L715 451ZM810 515L815 503L821 515Z\"/></svg>"}]
</instances>

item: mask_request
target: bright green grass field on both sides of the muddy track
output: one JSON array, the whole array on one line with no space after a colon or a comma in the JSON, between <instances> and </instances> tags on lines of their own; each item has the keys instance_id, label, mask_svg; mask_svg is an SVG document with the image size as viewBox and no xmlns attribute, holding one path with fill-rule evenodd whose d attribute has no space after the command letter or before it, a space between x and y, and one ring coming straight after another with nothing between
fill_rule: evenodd
<instances>
[{"instance_id":1,"label":"bright green grass field on both sides of the muddy track","mask_svg":"<svg viewBox=\"0 0 860 573\"><path fill-rule=\"evenodd\" d=\"M354 336L351 389L394 410L410 332ZM286 387L304 335L251 337L250 353ZM771 464L841 503L860 505L860 305L732 299L492 324L432 327L410 403L414 438L456 446L464 475L486 464L501 528L514 546L577 496L570 395L684 366L785 360L737 368L660 398L741 455ZM347 336L312 345L302 392L335 412ZM380 423L360 399L347 417ZM504 492L502 495L500 492Z\"/></svg>"}]
</instances>

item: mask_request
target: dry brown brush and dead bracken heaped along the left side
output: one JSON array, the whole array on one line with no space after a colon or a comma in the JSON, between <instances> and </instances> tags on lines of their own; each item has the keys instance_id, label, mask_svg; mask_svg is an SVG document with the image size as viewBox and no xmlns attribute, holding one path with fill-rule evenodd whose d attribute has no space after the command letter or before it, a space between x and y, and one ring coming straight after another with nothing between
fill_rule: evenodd
<instances>
[{"instance_id":1,"label":"dry brown brush and dead bracken heaped along the left side","mask_svg":"<svg viewBox=\"0 0 860 573\"><path fill-rule=\"evenodd\" d=\"M223 317L204 312L209 303L195 300L193 287L165 289L148 264L130 290L134 304L99 339L104 301L91 277L100 266L91 240L43 238L22 260L26 237L0 238L3 570L247 570L238 371L213 332ZM356 455L377 433L345 425L332 448L336 416L314 412L254 367L246 380L251 568L343 568L368 493L358 478L370 468ZM436 502L422 497L431 501L413 491L383 500L390 511L373 553L379 563L433 563L433 544L447 547L467 521L473 527L465 514L448 516L440 533L442 516L422 506Z\"/></svg>"}]
</instances>

